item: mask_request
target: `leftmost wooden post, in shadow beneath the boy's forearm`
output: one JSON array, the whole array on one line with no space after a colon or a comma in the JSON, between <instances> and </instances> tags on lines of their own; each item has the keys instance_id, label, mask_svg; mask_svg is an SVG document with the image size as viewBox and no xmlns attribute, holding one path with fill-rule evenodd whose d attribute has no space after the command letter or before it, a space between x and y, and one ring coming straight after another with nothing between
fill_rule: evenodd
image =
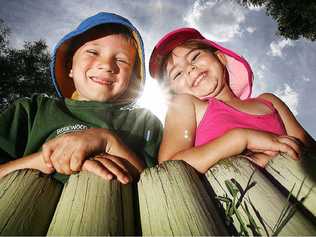
<instances>
[{"instance_id":1,"label":"leftmost wooden post, in shadow beneath the boy's forearm","mask_svg":"<svg viewBox=\"0 0 316 237\"><path fill-rule=\"evenodd\" d=\"M38 171L0 179L0 235L45 235L62 185Z\"/></svg>"}]
</instances>

